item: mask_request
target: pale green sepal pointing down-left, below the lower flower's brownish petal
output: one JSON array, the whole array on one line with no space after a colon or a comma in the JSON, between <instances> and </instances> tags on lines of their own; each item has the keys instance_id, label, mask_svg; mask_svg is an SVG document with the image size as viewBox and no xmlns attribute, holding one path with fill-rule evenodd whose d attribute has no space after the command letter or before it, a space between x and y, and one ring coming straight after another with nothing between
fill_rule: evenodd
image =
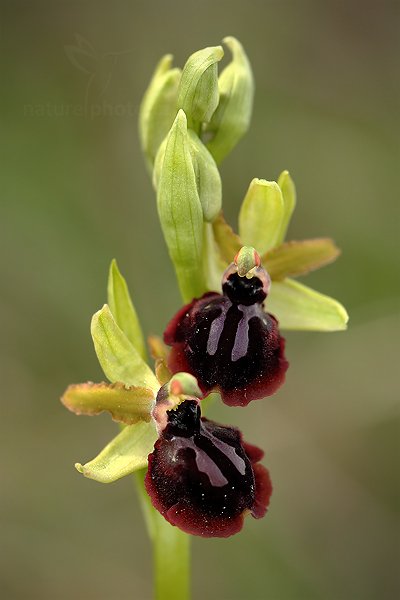
<instances>
[{"instance_id":1,"label":"pale green sepal pointing down-left, below the lower flower's brownish petal","mask_svg":"<svg viewBox=\"0 0 400 600\"><path fill-rule=\"evenodd\" d=\"M125 427L96 458L75 468L89 479L112 483L147 466L147 457L157 440L153 422Z\"/></svg>"}]
</instances>

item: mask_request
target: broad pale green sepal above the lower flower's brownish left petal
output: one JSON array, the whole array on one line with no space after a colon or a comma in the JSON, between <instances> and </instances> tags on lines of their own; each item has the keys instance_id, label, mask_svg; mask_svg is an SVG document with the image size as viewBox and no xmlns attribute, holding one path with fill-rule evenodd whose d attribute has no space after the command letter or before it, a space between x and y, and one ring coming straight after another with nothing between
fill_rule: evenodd
<instances>
[{"instance_id":1,"label":"broad pale green sepal above the lower flower's brownish left petal","mask_svg":"<svg viewBox=\"0 0 400 600\"><path fill-rule=\"evenodd\" d=\"M107 379L158 391L157 378L118 327L107 304L93 315L91 333Z\"/></svg>"}]
</instances>

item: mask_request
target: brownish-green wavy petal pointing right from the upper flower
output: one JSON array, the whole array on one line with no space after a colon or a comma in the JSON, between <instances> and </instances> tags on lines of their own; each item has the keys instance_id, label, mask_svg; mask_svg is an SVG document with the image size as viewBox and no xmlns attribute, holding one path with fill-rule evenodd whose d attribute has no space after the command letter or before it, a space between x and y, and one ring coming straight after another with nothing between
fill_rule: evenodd
<instances>
[{"instance_id":1,"label":"brownish-green wavy petal pointing right from the upper flower","mask_svg":"<svg viewBox=\"0 0 400 600\"><path fill-rule=\"evenodd\" d=\"M292 241L269 250L261 258L272 280L304 275L333 262L340 254L330 238Z\"/></svg>"}]
</instances>

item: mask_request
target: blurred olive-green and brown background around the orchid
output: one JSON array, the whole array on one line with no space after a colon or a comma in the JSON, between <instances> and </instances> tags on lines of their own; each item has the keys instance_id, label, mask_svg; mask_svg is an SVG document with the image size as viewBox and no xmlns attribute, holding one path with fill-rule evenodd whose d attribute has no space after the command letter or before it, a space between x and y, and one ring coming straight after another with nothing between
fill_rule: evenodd
<instances>
[{"instance_id":1,"label":"blurred olive-green and brown background around the orchid","mask_svg":"<svg viewBox=\"0 0 400 600\"><path fill-rule=\"evenodd\" d=\"M226 216L235 224L253 177L288 168L298 188L290 237L330 235L343 251L305 282L351 319L347 333L286 336L291 367L273 398L215 407L265 449L275 491L267 517L247 519L240 535L194 540L194 598L399 597L399 8L2 3L4 600L151 597L132 480L102 486L73 468L116 425L77 418L58 398L70 382L103 378L89 321L112 257L146 333L161 333L180 304L138 106L162 54L182 65L225 35L244 44L257 84L251 130L222 168ZM76 34L97 60L71 61Z\"/></svg>"}]
</instances>

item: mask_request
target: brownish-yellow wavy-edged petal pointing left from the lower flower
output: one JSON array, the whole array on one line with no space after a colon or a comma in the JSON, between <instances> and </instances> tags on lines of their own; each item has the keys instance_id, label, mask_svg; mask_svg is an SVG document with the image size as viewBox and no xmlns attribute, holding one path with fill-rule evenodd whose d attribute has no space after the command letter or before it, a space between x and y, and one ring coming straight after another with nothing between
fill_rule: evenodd
<instances>
[{"instance_id":1,"label":"brownish-yellow wavy-edged petal pointing left from the lower flower","mask_svg":"<svg viewBox=\"0 0 400 600\"><path fill-rule=\"evenodd\" d=\"M133 425L149 422L154 406L154 392L143 387L126 387L123 383L80 383L70 385L61 402L76 415L109 412L114 421Z\"/></svg>"}]
</instances>

